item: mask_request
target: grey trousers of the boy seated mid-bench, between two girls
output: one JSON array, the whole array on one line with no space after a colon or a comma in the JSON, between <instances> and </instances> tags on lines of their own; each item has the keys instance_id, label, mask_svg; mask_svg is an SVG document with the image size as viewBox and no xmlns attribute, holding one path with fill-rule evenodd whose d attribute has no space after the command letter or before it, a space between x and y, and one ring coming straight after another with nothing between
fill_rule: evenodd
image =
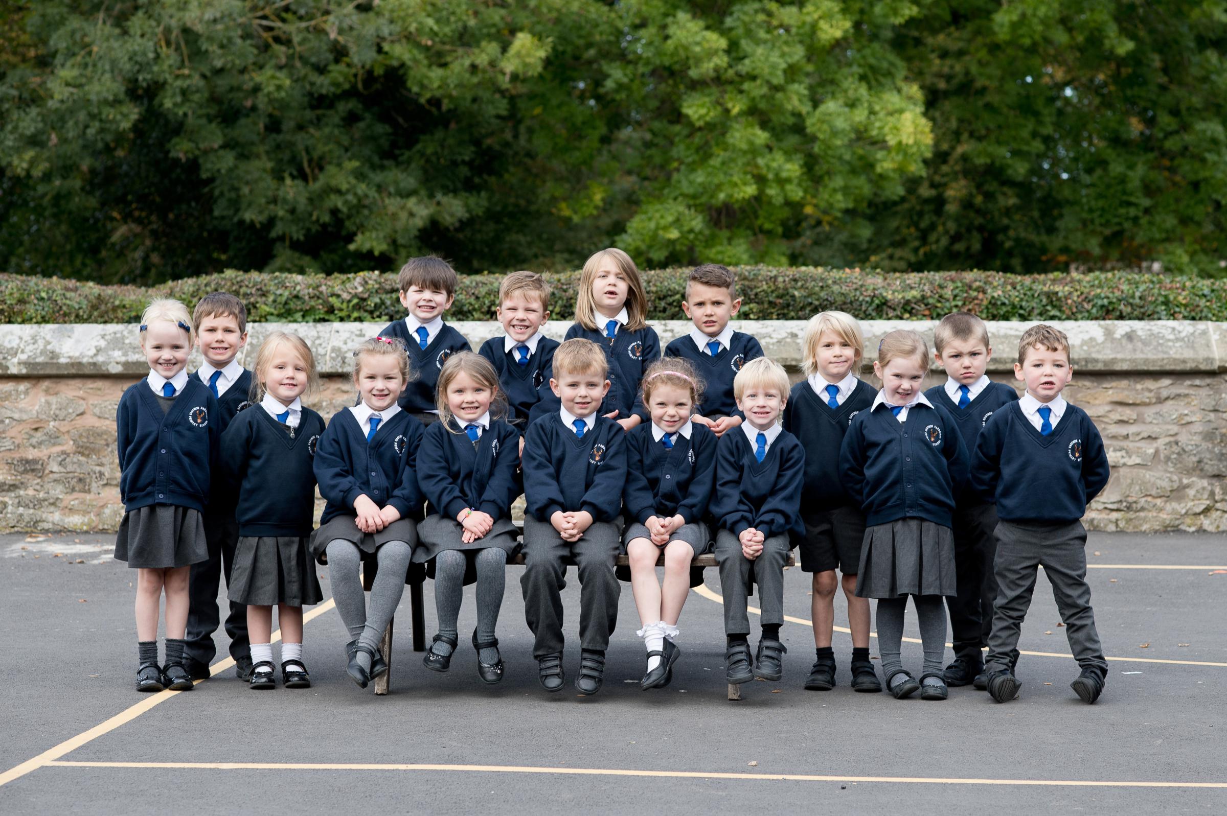
<instances>
[{"instance_id":1,"label":"grey trousers of the boy seated mid-bench, between two girls","mask_svg":"<svg viewBox=\"0 0 1227 816\"><path fill-rule=\"evenodd\" d=\"M622 587L614 574L622 550L622 520L593 522L574 544L563 541L548 522L524 515L524 617L536 638L533 656L562 652L562 590L572 558L579 572L579 647L604 652L617 625Z\"/></svg>"}]
</instances>

